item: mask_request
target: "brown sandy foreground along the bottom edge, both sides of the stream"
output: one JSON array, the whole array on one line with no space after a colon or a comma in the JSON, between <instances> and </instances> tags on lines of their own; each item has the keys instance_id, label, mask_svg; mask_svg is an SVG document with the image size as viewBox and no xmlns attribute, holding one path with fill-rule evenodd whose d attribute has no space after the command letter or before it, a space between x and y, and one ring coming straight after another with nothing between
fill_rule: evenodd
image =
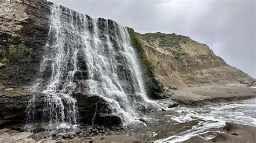
<instances>
[{"instance_id":1,"label":"brown sandy foreground along the bottom edge, both sides of the stream","mask_svg":"<svg viewBox=\"0 0 256 143\"><path fill-rule=\"evenodd\" d=\"M195 135L187 140L187 142L255 142L256 141L256 127L238 123L226 122L225 126L220 127L222 132L217 132L217 135L210 139L205 140L202 136L207 133ZM0 130L0 142L158 142L156 141L142 141L127 135L98 135L95 137L75 137L70 140L51 138L39 139L36 133L32 132L19 132L4 128Z\"/></svg>"}]
</instances>

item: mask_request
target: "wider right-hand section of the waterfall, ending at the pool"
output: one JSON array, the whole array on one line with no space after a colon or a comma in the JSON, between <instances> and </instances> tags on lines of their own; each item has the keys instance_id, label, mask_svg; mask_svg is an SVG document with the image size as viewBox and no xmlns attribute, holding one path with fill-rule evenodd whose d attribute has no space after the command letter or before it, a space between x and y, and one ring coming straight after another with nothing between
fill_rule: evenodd
<instances>
[{"instance_id":1,"label":"wider right-hand section of the waterfall, ending at the pool","mask_svg":"<svg viewBox=\"0 0 256 143\"><path fill-rule=\"evenodd\" d=\"M83 35L88 91L103 96L124 119L136 117L136 106L149 99L129 33L113 20L84 17L83 23L93 27Z\"/></svg>"}]
</instances>

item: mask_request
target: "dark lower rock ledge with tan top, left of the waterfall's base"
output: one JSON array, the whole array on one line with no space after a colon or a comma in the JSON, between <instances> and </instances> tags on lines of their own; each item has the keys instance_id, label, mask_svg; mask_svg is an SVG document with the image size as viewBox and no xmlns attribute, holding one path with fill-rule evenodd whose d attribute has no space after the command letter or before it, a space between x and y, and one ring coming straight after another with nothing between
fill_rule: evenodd
<instances>
[{"instance_id":1,"label":"dark lower rock ledge with tan top, left of the waterfall's base","mask_svg":"<svg viewBox=\"0 0 256 143\"><path fill-rule=\"evenodd\" d=\"M31 97L35 95L36 118L41 118L44 95L38 92L29 92L24 89L0 90L0 128L23 127L25 123L25 109Z\"/></svg>"}]
</instances>

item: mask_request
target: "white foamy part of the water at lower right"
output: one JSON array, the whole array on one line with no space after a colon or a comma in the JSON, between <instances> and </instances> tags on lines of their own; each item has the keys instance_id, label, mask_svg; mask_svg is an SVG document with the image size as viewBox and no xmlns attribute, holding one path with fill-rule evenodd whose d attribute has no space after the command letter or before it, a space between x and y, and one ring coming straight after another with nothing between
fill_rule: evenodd
<instances>
[{"instance_id":1,"label":"white foamy part of the water at lower right","mask_svg":"<svg viewBox=\"0 0 256 143\"><path fill-rule=\"evenodd\" d=\"M236 101L208 105L198 108L180 107L175 108L166 119L174 122L174 126L191 121L197 121L191 128L177 134L170 135L155 142L179 142L199 135L205 140L215 137L220 133L219 127L225 126L226 122L256 126L256 99ZM208 135L200 135L209 133Z\"/></svg>"}]
</instances>

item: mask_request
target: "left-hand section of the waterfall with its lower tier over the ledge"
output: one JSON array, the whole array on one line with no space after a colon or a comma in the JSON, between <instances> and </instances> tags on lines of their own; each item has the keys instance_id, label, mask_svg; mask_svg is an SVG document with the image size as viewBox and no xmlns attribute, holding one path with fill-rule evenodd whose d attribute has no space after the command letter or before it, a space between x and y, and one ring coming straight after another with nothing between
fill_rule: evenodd
<instances>
[{"instance_id":1,"label":"left-hand section of the waterfall with its lower tier over the ledge","mask_svg":"<svg viewBox=\"0 0 256 143\"><path fill-rule=\"evenodd\" d=\"M70 12L70 17L72 13ZM40 68L40 78L34 90L45 94L43 118L49 128L77 123L78 109L76 99L71 95L78 87L75 82L78 44L76 42L77 25L69 18L69 23L62 20L58 5L52 6L48 44ZM35 120L34 96L26 109L28 122Z\"/></svg>"}]
</instances>

